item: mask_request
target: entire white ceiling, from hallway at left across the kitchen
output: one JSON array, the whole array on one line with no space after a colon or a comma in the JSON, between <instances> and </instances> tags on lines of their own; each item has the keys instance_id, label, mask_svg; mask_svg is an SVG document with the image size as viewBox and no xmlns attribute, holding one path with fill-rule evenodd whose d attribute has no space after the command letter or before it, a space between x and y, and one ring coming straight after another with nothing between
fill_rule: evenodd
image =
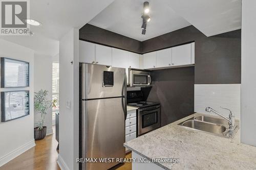
<instances>
[{"instance_id":1,"label":"entire white ceiling, from hallway at left across the kitchen","mask_svg":"<svg viewBox=\"0 0 256 170\"><path fill-rule=\"evenodd\" d=\"M35 53L54 56L59 53L59 38L71 28L81 28L92 18L89 22L92 25L140 41L181 29L190 23L206 36L241 28L241 0L151 0L152 20L148 22L146 35L141 35L143 2L33 0L30 1L30 17L42 22L41 27L31 26L35 35L0 38L31 48Z\"/></svg>"}]
</instances>

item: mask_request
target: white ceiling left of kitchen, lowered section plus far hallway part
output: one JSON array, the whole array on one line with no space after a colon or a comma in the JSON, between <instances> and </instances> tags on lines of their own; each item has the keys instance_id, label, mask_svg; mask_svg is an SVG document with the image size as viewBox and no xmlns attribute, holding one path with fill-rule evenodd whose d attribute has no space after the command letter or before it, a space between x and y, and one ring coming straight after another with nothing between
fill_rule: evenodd
<instances>
[{"instance_id":1,"label":"white ceiling left of kitchen, lowered section plus far hallway part","mask_svg":"<svg viewBox=\"0 0 256 170\"><path fill-rule=\"evenodd\" d=\"M34 36L0 36L26 46L35 53L54 56L59 53L59 38L71 28L81 28L114 0L32 0L30 18L42 22L30 29Z\"/></svg>"}]
</instances>

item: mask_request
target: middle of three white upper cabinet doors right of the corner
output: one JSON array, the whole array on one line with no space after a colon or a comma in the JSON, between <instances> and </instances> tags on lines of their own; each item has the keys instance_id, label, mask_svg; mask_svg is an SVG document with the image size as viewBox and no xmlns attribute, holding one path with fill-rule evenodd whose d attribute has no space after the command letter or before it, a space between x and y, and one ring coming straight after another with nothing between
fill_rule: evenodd
<instances>
[{"instance_id":1,"label":"middle of three white upper cabinet doors right of the corner","mask_svg":"<svg viewBox=\"0 0 256 170\"><path fill-rule=\"evenodd\" d=\"M156 67L168 67L172 63L172 48L159 50L157 53Z\"/></svg>"}]
</instances>

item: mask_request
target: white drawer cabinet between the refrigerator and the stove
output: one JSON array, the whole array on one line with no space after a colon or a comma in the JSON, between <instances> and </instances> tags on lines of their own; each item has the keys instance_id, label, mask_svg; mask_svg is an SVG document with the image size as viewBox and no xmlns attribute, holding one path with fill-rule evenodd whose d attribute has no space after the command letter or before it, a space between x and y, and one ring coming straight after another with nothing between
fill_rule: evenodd
<instances>
[{"instance_id":1,"label":"white drawer cabinet between the refrigerator and the stove","mask_svg":"<svg viewBox=\"0 0 256 170\"><path fill-rule=\"evenodd\" d=\"M137 123L136 123L136 110L127 111L127 117L125 120L125 142L135 139L137 136ZM129 149L125 148L125 152L129 152Z\"/></svg>"}]
</instances>

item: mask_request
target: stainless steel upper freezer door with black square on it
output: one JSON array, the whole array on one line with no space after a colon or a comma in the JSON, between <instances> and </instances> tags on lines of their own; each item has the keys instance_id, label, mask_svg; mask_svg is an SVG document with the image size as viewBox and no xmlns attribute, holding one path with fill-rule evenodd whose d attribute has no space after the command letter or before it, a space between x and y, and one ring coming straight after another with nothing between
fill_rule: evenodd
<instances>
[{"instance_id":1,"label":"stainless steel upper freezer door with black square on it","mask_svg":"<svg viewBox=\"0 0 256 170\"><path fill-rule=\"evenodd\" d=\"M125 95L125 68L80 63L82 99L112 98Z\"/></svg>"}]
</instances>

